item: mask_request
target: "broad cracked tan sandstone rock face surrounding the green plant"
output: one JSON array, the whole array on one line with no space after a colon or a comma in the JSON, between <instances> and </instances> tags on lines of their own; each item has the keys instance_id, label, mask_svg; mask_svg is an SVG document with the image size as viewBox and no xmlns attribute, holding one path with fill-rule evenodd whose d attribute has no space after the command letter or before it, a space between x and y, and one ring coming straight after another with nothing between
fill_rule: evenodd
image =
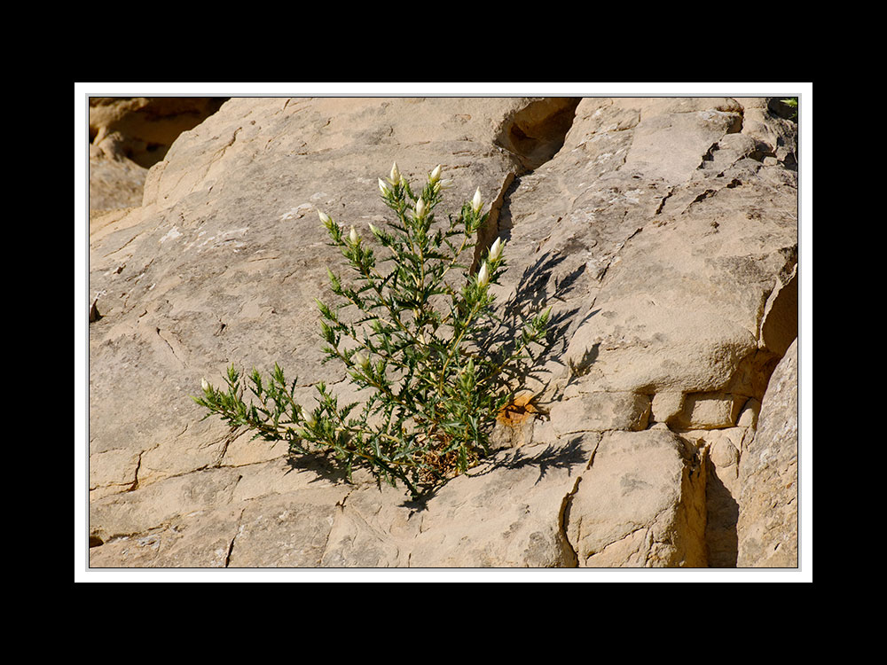
<instances>
[{"instance_id":1,"label":"broad cracked tan sandstone rock face surrounding the green plant","mask_svg":"<svg viewBox=\"0 0 887 665\"><path fill-rule=\"evenodd\" d=\"M735 566L742 506L773 492L743 466L758 413L797 418L788 401L766 415L797 337L797 125L779 112L232 98L148 171L141 206L90 232L90 566ZM319 380L355 395L320 364L314 299L341 255L317 211L380 223L395 160L411 182L443 165L444 210L480 188L482 245L506 240L503 325L553 307L533 408L423 502L200 420L188 396L275 362L303 404ZM769 528L749 533L789 551L797 533Z\"/></svg>"}]
</instances>

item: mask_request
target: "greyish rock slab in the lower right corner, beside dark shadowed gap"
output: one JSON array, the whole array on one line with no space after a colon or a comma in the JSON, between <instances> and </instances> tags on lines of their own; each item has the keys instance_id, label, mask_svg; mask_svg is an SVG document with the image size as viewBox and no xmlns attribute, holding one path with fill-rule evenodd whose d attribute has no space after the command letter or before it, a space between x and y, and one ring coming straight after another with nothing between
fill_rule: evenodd
<instances>
[{"instance_id":1,"label":"greyish rock slab in the lower right corner, beside dark shadowed gap","mask_svg":"<svg viewBox=\"0 0 887 665\"><path fill-rule=\"evenodd\" d=\"M797 567L797 340L776 365L739 464L740 567Z\"/></svg>"}]
</instances>

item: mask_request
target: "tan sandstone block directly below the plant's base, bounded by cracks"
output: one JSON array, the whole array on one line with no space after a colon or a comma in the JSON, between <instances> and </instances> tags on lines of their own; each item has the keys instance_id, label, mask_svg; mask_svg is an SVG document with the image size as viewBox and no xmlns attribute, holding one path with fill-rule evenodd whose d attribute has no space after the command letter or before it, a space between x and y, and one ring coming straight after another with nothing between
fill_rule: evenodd
<instances>
[{"instance_id":1,"label":"tan sandstone block directly below the plant's base, bounded by cracks","mask_svg":"<svg viewBox=\"0 0 887 665\"><path fill-rule=\"evenodd\" d=\"M427 502L365 484L341 502L323 567L570 567L565 498L597 439L500 451ZM513 497L501 502L503 496ZM519 497L519 500L518 500ZM491 505L496 509L491 510Z\"/></svg>"}]
</instances>

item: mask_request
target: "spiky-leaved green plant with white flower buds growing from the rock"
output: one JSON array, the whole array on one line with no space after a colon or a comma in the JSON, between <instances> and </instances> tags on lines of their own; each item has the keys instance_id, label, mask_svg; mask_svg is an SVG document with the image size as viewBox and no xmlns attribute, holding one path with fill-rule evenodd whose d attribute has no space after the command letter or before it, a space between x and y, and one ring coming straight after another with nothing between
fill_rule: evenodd
<instances>
[{"instance_id":1,"label":"spiky-leaved green plant with white flower buds growing from the rock","mask_svg":"<svg viewBox=\"0 0 887 665\"><path fill-rule=\"evenodd\" d=\"M295 402L295 380L287 382L277 364L267 378L232 365L224 387L204 379L193 398L208 409L205 418L255 430L254 439L287 441L295 454L332 451L349 478L364 465L380 481L403 481L413 496L483 458L498 413L514 397L510 384L526 375L531 348L546 337L550 309L491 347L490 286L506 269L504 243L497 239L481 254L472 274L467 262L489 213L478 189L459 215L438 223L444 186L438 166L417 196L395 164L387 181L379 179L395 220L383 229L370 224L372 240L318 211L353 278L346 283L327 269L336 301L318 300L324 362L343 364L365 401L340 405L320 382L309 411ZM249 403L247 389L255 398Z\"/></svg>"}]
</instances>

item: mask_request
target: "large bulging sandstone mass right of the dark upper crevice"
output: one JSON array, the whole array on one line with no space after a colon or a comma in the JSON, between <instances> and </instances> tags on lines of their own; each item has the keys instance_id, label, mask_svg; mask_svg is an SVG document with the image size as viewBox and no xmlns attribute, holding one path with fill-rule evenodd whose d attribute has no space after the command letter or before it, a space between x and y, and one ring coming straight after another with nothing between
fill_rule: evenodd
<instances>
[{"instance_id":1,"label":"large bulging sandstone mass right of the dark upper crevice","mask_svg":"<svg viewBox=\"0 0 887 665\"><path fill-rule=\"evenodd\" d=\"M736 118L711 120L721 113ZM740 117L730 100L584 99L561 152L518 180L500 218L506 233L514 226L512 274L527 285L514 292L542 300L546 289L567 343L553 355L587 392L716 391L756 354L762 303L797 262L797 191L774 189L739 154L704 168ZM654 129L671 145L681 123L704 137L681 139L695 167L657 170Z\"/></svg>"}]
</instances>

